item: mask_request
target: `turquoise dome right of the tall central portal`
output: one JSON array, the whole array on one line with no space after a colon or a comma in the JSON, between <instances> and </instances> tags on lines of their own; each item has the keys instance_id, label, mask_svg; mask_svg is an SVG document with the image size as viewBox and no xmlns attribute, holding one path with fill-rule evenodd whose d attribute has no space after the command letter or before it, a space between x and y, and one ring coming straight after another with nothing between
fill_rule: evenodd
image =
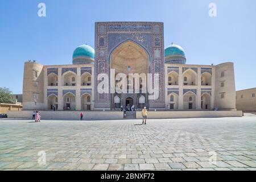
<instances>
[{"instance_id":1,"label":"turquoise dome right of the tall central portal","mask_svg":"<svg viewBox=\"0 0 256 182\"><path fill-rule=\"evenodd\" d=\"M185 64L186 56L185 51L182 47L175 44L171 44L164 49L165 63L168 64Z\"/></svg>"}]
</instances>

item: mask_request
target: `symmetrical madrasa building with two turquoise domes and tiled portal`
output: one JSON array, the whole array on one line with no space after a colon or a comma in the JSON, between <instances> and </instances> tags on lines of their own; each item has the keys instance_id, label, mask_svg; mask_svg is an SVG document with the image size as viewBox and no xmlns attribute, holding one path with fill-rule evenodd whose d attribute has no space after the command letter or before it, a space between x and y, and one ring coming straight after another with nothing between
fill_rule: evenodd
<instances>
[{"instance_id":1,"label":"symmetrical madrasa building with two turquoise domes and tiled portal","mask_svg":"<svg viewBox=\"0 0 256 182\"><path fill-rule=\"evenodd\" d=\"M95 51L89 45L73 51L73 64L24 64L23 110L117 110L134 105L150 110L236 110L234 64L186 64L176 44L164 49L161 22L96 22ZM159 74L159 97L150 94L99 93L98 76ZM154 77L152 78L154 81ZM109 79L110 82L110 79ZM128 87L133 82L127 81ZM110 88L109 88L110 89Z\"/></svg>"}]
</instances>

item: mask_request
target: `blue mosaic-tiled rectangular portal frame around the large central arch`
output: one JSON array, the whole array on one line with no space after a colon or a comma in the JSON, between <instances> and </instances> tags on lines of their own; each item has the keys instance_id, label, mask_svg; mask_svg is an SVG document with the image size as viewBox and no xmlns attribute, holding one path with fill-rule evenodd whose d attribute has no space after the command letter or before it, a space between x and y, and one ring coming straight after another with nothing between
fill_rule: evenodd
<instances>
[{"instance_id":1,"label":"blue mosaic-tiled rectangular portal frame around the large central arch","mask_svg":"<svg viewBox=\"0 0 256 182\"><path fill-rule=\"evenodd\" d=\"M141 46L150 57L148 73L159 73L159 98L158 100L148 101L148 106L151 108L164 108L163 23L98 22L96 23L95 34L95 89L98 86L98 74L107 73L109 75L110 73L110 56L112 52L121 44L131 41ZM95 94L96 108L110 108L111 103L111 94Z\"/></svg>"}]
</instances>

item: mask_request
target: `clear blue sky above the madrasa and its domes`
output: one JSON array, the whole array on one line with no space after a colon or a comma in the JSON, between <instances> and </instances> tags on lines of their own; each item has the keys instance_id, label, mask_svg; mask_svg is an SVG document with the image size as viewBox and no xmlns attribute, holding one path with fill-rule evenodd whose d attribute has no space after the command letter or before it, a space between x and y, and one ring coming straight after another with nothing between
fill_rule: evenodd
<instances>
[{"instance_id":1,"label":"clear blue sky above the madrasa and its domes","mask_svg":"<svg viewBox=\"0 0 256 182\"><path fill-rule=\"evenodd\" d=\"M47 16L38 16L46 3ZM210 18L208 5L217 5ZM185 49L187 64L235 63L236 89L256 87L255 0L10 0L0 2L0 87L22 93L24 61L71 64L81 44L94 47L94 22L164 22L165 47Z\"/></svg>"}]
</instances>

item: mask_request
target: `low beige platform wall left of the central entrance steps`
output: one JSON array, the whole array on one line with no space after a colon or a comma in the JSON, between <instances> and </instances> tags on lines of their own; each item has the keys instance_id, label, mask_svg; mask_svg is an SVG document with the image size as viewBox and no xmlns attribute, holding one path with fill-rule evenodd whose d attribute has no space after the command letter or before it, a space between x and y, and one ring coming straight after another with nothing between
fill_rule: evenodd
<instances>
[{"instance_id":1,"label":"low beige platform wall left of the central entrance steps","mask_svg":"<svg viewBox=\"0 0 256 182\"><path fill-rule=\"evenodd\" d=\"M81 111L40 111L42 119L80 120ZM121 111L83 111L85 120L123 119ZM31 119L32 111L9 111L8 118Z\"/></svg>"}]
</instances>

